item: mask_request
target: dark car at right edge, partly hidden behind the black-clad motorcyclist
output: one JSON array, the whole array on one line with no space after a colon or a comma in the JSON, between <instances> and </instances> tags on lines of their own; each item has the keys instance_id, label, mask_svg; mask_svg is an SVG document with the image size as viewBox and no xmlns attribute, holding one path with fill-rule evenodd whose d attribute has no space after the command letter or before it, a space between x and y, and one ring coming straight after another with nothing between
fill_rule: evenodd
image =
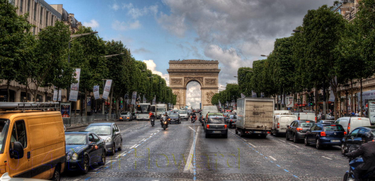
<instances>
[{"instance_id":1,"label":"dark car at right edge, partly hidden behind the black-clad motorcyclist","mask_svg":"<svg viewBox=\"0 0 375 181\"><path fill-rule=\"evenodd\" d=\"M362 126L354 129L350 134L347 134L341 140L341 153L347 153L347 148L351 145L361 145L362 138L361 136L364 133L371 132L375 137L375 126Z\"/></svg>"}]
</instances>

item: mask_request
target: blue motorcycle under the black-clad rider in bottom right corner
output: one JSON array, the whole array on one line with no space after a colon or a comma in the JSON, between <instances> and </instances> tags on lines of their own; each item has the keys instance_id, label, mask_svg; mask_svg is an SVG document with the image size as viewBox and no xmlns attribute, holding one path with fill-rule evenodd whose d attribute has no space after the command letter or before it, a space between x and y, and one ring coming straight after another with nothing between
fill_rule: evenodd
<instances>
[{"instance_id":1,"label":"blue motorcycle under the black-clad rider in bottom right corner","mask_svg":"<svg viewBox=\"0 0 375 181\"><path fill-rule=\"evenodd\" d=\"M355 151L359 148L359 145L352 145L348 149L348 153ZM363 163L362 157L357 158L348 158L349 159L349 170L345 172L344 181L354 181L354 169ZM362 175L362 181L371 181L375 180L375 171L372 170L364 175Z\"/></svg>"}]
</instances>

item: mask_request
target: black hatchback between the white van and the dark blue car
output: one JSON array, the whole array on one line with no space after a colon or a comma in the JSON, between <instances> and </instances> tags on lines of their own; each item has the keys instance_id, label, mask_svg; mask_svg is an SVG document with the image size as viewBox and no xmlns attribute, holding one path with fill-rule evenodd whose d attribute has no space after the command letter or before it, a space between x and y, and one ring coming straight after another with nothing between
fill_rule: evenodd
<instances>
[{"instance_id":1,"label":"black hatchback between the white van and the dark blue car","mask_svg":"<svg viewBox=\"0 0 375 181\"><path fill-rule=\"evenodd\" d=\"M287 127L285 138L293 139L293 142L297 143L298 140L305 138L306 131L314 124L315 122L310 120L295 120Z\"/></svg>"}]
</instances>

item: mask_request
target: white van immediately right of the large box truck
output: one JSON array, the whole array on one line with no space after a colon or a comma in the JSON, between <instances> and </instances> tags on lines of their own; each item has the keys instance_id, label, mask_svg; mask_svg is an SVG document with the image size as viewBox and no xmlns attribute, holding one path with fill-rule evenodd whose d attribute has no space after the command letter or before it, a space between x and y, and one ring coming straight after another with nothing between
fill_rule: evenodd
<instances>
[{"instance_id":1,"label":"white van immediately right of the large box truck","mask_svg":"<svg viewBox=\"0 0 375 181\"><path fill-rule=\"evenodd\" d=\"M285 135L287 132L287 126L289 126L294 120L297 120L297 116L290 114L276 115L275 119L273 120L271 135Z\"/></svg>"}]
</instances>

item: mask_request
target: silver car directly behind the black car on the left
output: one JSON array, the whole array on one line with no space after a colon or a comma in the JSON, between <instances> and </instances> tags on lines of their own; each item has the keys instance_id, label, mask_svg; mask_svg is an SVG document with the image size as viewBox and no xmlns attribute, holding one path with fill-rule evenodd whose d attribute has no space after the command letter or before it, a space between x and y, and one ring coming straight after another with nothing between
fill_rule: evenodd
<instances>
[{"instance_id":1,"label":"silver car directly behind the black car on the left","mask_svg":"<svg viewBox=\"0 0 375 181\"><path fill-rule=\"evenodd\" d=\"M92 131L104 139L107 153L114 155L116 149L122 150L121 132L115 123L93 123L87 126L84 131Z\"/></svg>"}]
</instances>

